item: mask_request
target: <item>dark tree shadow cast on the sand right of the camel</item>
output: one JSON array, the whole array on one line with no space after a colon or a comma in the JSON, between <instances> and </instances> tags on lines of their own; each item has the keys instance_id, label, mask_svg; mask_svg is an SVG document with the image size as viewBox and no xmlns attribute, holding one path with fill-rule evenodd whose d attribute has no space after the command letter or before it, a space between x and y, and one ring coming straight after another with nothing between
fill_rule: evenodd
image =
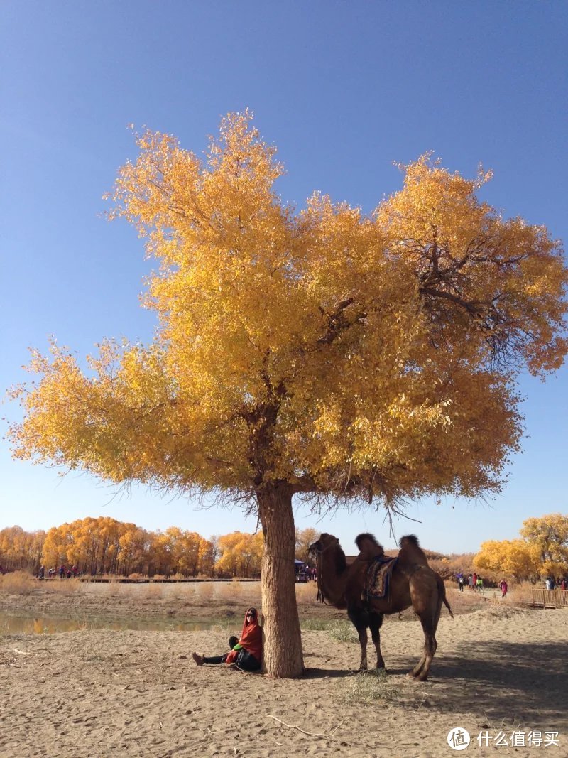
<instances>
[{"instance_id":1,"label":"dark tree shadow cast on the sand right of the camel","mask_svg":"<svg viewBox=\"0 0 568 758\"><path fill-rule=\"evenodd\" d=\"M566 728L567 657L568 641L472 641L461 654L435 657L427 697L440 713L474 711L493 722L507 719L535 728ZM396 663L401 662L399 657ZM397 666L389 669L389 675L406 674L409 669Z\"/></svg>"}]
</instances>

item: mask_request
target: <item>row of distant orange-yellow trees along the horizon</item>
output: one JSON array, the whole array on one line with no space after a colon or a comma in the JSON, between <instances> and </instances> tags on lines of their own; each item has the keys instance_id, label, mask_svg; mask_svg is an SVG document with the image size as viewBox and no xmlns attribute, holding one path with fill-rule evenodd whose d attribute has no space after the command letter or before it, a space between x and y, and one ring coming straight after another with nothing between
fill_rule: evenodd
<instances>
[{"instance_id":1,"label":"row of distant orange-yellow trees along the horizon","mask_svg":"<svg viewBox=\"0 0 568 758\"><path fill-rule=\"evenodd\" d=\"M297 559L308 562L308 548L319 536L314 528L296 530ZM40 565L76 565L86 575L242 577L261 575L261 532L205 539L195 531L170 527L147 531L108 516L81 518L45 531L19 526L0 530L0 566L37 573ZM389 551L388 551L389 552ZM394 552L394 551L390 551ZM568 516L553 513L523 522L520 539L488 540L479 553L433 553L429 563L445 579L483 572L488 580L517 581L568 575Z\"/></svg>"}]
</instances>

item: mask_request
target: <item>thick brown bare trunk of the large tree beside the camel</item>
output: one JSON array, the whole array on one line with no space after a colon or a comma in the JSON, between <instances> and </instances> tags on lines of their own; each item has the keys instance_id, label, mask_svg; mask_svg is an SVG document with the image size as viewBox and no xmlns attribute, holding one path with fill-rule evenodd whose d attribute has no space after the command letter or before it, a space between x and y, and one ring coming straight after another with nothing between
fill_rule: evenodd
<instances>
[{"instance_id":1,"label":"thick brown bare trunk of the large tree beside the camel","mask_svg":"<svg viewBox=\"0 0 568 758\"><path fill-rule=\"evenodd\" d=\"M304 672L296 605L292 492L283 485L257 494L262 556L263 670L276 678Z\"/></svg>"}]
</instances>

